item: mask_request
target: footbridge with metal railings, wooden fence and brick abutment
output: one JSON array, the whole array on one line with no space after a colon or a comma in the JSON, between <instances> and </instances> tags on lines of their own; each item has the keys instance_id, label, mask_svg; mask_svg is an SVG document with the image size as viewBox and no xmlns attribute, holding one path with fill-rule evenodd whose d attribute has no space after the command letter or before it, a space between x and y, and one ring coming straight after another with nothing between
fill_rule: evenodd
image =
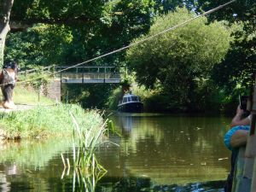
<instances>
[{"instance_id":1,"label":"footbridge with metal railings, wooden fence and brick abutment","mask_svg":"<svg viewBox=\"0 0 256 192\"><path fill-rule=\"evenodd\" d=\"M61 84L119 84L120 73L116 67L72 67L54 66L39 67L37 69L22 70L19 77L25 81L34 79L35 74L40 79L41 76L49 75L53 80L44 89L44 95L61 101ZM21 80L22 81L22 80Z\"/></svg>"}]
</instances>

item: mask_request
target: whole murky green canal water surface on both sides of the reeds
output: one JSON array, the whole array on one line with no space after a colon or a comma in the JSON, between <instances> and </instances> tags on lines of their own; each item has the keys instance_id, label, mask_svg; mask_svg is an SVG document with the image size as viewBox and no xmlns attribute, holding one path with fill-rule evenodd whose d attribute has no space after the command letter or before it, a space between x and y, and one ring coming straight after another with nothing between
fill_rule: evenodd
<instances>
[{"instance_id":1,"label":"whole murky green canal water surface on both sides of the reeds","mask_svg":"<svg viewBox=\"0 0 256 192\"><path fill-rule=\"evenodd\" d=\"M117 134L96 151L108 173L96 184L86 177L87 191L223 191L230 118L114 113L109 119ZM72 160L71 147L67 138L2 142L0 191L86 191L63 167L61 153Z\"/></svg>"}]
</instances>

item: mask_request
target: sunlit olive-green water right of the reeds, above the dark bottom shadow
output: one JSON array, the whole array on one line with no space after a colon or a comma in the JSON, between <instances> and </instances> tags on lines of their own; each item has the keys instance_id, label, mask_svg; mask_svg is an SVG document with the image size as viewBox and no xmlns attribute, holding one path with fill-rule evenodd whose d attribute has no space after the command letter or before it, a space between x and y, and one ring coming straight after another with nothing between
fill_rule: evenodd
<instances>
[{"instance_id":1,"label":"sunlit olive-green water right of the reeds, above the dark bottom shadow","mask_svg":"<svg viewBox=\"0 0 256 192\"><path fill-rule=\"evenodd\" d=\"M164 114L113 116L124 137L120 148L100 152L110 177L150 177L153 183L191 183L224 179L229 153L223 145L230 119ZM102 149L104 150L104 149Z\"/></svg>"}]
</instances>

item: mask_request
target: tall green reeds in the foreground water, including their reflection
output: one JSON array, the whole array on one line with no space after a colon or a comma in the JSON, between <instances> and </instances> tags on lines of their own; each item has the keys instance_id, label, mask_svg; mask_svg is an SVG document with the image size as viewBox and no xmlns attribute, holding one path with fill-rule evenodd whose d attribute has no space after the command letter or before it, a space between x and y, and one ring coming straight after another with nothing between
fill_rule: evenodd
<instances>
[{"instance_id":1,"label":"tall green reeds in the foreground water, including their reflection","mask_svg":"<svg viewBox=\"0 0 256 192\"><path fill-rule=\"evenodd\" d=\"M69 159L65 160L61 154L64 171L62 176L67 175L73 168L73 191L93 192L96 183L107 173L107 170L96 160L95 151L104 141L103 136L107 131L106 120L100 127L88 127L82 129L75 115L70 112L73 119L73 166L71 167ZM67 163L66 163L67 162Z\"/></svg>"}]
</instances>

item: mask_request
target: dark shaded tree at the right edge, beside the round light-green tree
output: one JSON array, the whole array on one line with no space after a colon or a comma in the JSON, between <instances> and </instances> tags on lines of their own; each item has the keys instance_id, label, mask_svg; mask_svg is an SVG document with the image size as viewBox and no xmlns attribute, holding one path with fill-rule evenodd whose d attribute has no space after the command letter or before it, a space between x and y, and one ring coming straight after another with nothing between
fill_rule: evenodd
<instances>
[{"instance_id":1,"label":"dark shaded tree at the right edge, beside the round light-green tree","mask_svg":"<svg viewBox=\"0 0 256 192\"><path fill-rule=\"evenodd\" d=\"M198 1L198 9L212 9L224 0ZM253 0L237 0L225 9L210 15L210 20L229 20L241 25L232 33L235 39L230 45L223 62L217 65L212 73L227 95L232 98L240 92L249 90L253 83L253 73L256 73L256 2Z\"/></svg>"}]
</instances>

